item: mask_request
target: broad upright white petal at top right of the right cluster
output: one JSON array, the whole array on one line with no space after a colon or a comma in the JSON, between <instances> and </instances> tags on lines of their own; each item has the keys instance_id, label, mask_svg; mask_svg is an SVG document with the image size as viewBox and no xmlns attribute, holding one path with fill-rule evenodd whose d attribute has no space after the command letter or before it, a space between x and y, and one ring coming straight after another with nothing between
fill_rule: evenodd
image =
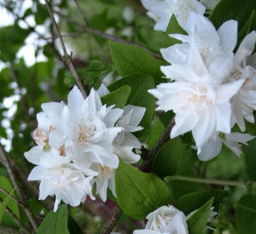
<instances>
[{"instance_id":1,"label":"broad upright white petal at top right of the right cluster","mask_svg":"<svg viewBox=\"0 0 256 234\"><path fill-rule=\"evenodd\" d=\"M218 29L220 47L224 52L233 52L237 43L237 21L228 20Z\"/></svg>"}]
</instances>

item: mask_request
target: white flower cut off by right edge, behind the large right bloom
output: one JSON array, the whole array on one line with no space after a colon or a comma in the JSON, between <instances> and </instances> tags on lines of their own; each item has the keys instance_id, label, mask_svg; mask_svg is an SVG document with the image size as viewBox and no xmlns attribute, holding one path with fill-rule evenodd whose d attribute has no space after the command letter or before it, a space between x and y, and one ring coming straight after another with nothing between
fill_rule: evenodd
<instances>
[{"instance_id":1,"label":"white flower cut off by right edge, behind the large right bloom","mask_svg":"<svg viewBox=\"0 0 256 234\"><path fill-rule=\"evenodd\" d=\"M254 123L253 110L256 110L256 67L247 65L247 59L251 63L256 62L255 56L250 56L256 42L256 32L249 33L241 42L236 51L231 80L244 80L238 94L232 99L233 115L232 125L235 123L246 129L244 118Z\"/></svg>"}]
</instances>

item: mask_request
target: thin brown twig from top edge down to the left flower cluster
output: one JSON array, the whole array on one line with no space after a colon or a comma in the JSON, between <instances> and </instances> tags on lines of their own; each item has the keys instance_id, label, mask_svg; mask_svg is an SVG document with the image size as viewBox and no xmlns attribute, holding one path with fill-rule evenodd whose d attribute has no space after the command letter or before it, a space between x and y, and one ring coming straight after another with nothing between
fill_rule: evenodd
<instances>
[{"instance_id":1,"label":"thin brown twig from top edge down to the left flower cluster","mask_svg":"<svg viewBox=\"0 0 256 234\"><path fill-rule=\"evenodd\" d=\"M55 20L55 17L53 15L53 13L52 13L52 10L49 7L48 1L44 0L44 2L45 2L47 10L49 12L49 16L50 16L50 18L51 18L51 20L53 22L53 26L55 28L56 34L58 35L58 37L60 38L60 41L61 41L61 48L62 48L62 51L63 51L63 54L64 54L63 55L63 60L67 63L67 66L68 66L69 70L72 72L73 77L75 78L76 83L78 84L79 89L80 89L80 91L83 94L84 99L85 99L87 97L87 94L86 94L86 92L84 90L83 84L81 83L81 81L79 79L79 75L78 75L77 71L75 70L75 68L73 66L73 62L71 60L71 56L69 54L67 54L67 49L66 49L65 43L63 41L63 38L61 37L61 31L60 31L60 29L59 29L59 27L58 27L58 25L56 23L56 20Z\"/></svg>"}]
</instances>

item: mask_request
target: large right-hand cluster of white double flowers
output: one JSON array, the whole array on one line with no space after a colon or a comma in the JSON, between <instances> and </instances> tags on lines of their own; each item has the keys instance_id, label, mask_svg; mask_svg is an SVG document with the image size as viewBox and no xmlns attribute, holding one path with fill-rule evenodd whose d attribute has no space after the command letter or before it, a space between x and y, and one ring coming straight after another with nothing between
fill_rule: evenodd
<instances>
[{"instance_id":1,"label":"large right-hand cluster of white double flowers","mask_svg":"<svg viewBox=\"0 0 256 234\"><path fill-rule=\"evenodd\" d=\"M179 10L183 12L182 8ZM166 14L163 9L162 12ZM171 64L161 66L170 82L160 83L148 92L158 99L156 110L172 110L176 114L171 138L191 131L202 161L216 157L222 143L240 156L238 142L247 144L253 136L232 133L231 128L237 124L243 132L245 120L254 123L256 56L252 53L256 32L249 33L234 54L236 20L226 21L216 30L207 17L195 10L183 14L186 22L181 26L187 35L169 35L182 43L160 49L163 58Z\"/></svg>"}]
</instances>

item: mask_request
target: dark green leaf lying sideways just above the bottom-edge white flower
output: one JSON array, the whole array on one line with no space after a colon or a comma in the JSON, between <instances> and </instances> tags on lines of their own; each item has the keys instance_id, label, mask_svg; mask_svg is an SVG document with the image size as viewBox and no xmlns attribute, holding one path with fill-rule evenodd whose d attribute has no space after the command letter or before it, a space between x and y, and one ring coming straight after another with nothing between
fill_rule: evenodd
<instances>
[{"instance_id":1,"label":"dark green leaf lying sideways just above the bottom-edge white flower","mask_svg":"<svg viewBox=\"0 0 256 234\"><path fill-rule=\"evenodd\" d=\"M189 193L180 197L175 203L175 207L182 210L183 213L187 215L193 210L201 207L204 203L207 203L207 201L212 197L214 197L213 206L218 206L218 203L220 203L227 193L227 191L223 190L197 191Z\"/></svg>"}]
</instances>

